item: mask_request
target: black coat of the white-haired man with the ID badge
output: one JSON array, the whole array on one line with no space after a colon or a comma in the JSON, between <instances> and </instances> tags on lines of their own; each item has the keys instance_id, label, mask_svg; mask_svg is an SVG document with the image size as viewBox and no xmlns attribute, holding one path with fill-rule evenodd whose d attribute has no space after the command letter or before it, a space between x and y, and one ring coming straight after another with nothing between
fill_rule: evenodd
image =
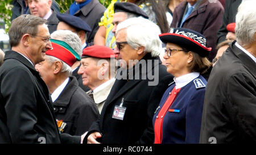
<instances>
[{"instance_id":1,"label":"black coat of the white-haired man with the ID badge","mask_svg":"<svg viewBox=\"0 0 256 155\"><path fill-rule=\"evenodd\" d=\"M152 117L168 84L173 81L173 76L167 73L166 66L160 64L162 62L159 57L151 57L151 54L147 53L134 68L137 68L142 61L146 61L146 64L142 65L147 66L144 70L146 74L142 74L143 69L140 68L139 74L135 73L133 79L117 77L102 108L100 119L93 123L86 136L98 131L102 133L102 139L98 141L105 144L152 144L154 142ZM134 71L134 68L131 70ZM154 81L148 79L148 74L151 73L158 75L156 78L159 81L156 86L149 86L148 82ZM135 78L137 75L139 79ZM124 98L123 107L126 107L125 116L123 120L113 119L114 107L121 104L122 98ZM84 143L86 141L87 137Z\"/></svg>"}]
</instances>

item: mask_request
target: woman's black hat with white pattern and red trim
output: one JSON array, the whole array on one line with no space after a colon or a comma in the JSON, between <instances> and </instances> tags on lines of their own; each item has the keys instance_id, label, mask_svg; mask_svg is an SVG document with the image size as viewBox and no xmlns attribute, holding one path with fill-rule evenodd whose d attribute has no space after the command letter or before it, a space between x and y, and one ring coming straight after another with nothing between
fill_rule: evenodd
<instances>
[{"instance_id":1,"label":"woman's black hat with white pattern and red trim","mask_svg":"<svg viewBox=\"0 0 256 155\"><path fill-rule=\"evenodd\" d=\"M177 44L189 51L198 53L201 57L208 56L212 49L206 47L204 35L187 28L171 28L170 33L162 33L159 37L164 43Z\"/></svg>"}]
</instances>

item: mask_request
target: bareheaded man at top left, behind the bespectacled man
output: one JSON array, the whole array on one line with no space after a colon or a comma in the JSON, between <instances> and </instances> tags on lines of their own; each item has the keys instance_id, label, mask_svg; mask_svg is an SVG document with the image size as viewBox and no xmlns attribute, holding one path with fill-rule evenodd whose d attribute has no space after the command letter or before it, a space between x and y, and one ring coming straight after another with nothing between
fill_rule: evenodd
<instances>
[{"instance_id":1,"label":"bareheaded man at top left, behind the bespectacled man","mask_svg":"<svg viewBox=\"0 0 256 155\"><path fill-rule=\"evenodd\" d=\"M51 9L51 6L52 0L28 0L30 14L46 19L50 34L57 30L57 24L59 23L56 12Z\"/></svg>"}]
</instances>

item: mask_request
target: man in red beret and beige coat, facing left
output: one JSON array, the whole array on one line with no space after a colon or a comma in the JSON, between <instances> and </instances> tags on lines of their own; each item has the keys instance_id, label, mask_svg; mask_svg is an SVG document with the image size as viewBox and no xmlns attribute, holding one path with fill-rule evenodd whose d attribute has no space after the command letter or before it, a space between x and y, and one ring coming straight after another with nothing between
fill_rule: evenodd
<instances>
[{"instance_id":1,"label":"man in red beret and beige coat, facing left","mask_svg":"<svg viewBox=\"0 0 256 155\"><path fill-rule=\"evenodd\" d=\"M82 83L90 88L87 94L100 113L115 82L115 56L112 49L101 45L93 45L82 51L78 73Z\"/></svg>"}]
</instances>

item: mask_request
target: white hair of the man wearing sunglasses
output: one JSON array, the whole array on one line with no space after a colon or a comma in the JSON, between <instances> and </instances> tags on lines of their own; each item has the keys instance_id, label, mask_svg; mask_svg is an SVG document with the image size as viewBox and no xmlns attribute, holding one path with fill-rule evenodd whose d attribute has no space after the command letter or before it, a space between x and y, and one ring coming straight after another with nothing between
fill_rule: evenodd
<instances>
[{"instance_id":1,"label":"white hair of the man wearing sunglasses","mask_svg":"<svg viewBox=\"0 0 256 155\"><path fill-rule=\"evenodd\" d=\"M159 39L160 28L153 22L142 17L127 19L117 26L119 30L126 28L128 44L137 49L143 46L144 52L151 53L152 57L160 55L162 41Z\"/></svg>"}]
</instances>

